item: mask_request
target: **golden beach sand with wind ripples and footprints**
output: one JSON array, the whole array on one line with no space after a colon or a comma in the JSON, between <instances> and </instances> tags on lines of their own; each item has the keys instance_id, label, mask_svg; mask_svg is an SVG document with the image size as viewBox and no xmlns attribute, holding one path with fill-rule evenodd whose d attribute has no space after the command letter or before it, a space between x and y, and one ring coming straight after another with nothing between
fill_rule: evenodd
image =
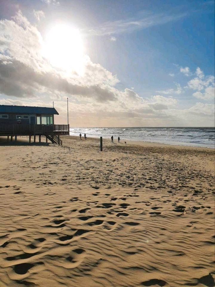
<instances>
[{"instance_id":1,"label":"golden beach sand with wind ripples and footprints","mask_svg":"<svg viewBox=\"0 0 215 287\"><path fill-rule=\"evenodd\" d=\"M0 287L214 286L214 149L18 139L0 146Z\"/></svg>"}]
</instances>

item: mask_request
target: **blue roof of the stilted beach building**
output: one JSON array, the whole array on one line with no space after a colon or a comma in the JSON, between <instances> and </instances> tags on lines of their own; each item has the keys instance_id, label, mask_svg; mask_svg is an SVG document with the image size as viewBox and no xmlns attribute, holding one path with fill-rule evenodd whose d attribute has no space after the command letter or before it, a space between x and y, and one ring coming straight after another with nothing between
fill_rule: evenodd
<instances>
[{"instance_id":1,"label":"blue roof of the stilted beach building","mask_svg":"<svg viewBox=\"0 0 215 287\"><path fill-rule=\"evenodd\" d=\"M59 115L55 108L0 105L0 113Z\"/></svg>"}]
</instances>

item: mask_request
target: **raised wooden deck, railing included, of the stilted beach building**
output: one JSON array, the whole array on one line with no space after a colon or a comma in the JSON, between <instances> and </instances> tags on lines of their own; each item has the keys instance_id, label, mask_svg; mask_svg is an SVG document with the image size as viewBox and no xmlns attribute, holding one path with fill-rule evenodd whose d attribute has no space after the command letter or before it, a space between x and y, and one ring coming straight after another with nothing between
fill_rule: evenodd
<instances>
[{"instance_id":1,"label":"raised wooden deck, railing included, of the stilted beach building","mask_svg":"<svg viewBox=\"0 0 215 287\"><path fill-rule=\"evenodd\" d=\"M0 136L69 135L69 125L0 124Z\"/></svg>"}]
</instances>

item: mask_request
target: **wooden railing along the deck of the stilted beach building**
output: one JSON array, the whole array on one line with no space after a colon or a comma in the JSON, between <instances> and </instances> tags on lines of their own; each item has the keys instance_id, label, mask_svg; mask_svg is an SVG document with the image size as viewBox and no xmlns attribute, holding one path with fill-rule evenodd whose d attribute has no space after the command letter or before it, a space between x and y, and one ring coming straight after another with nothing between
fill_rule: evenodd
<instances>
[{"instance_id":1,"label":"wooden railing along the deck of the stilted beach building","mask_svg":"<svg viewBox=\"0 0 215 287\"><path fill-rule=\"evenodd\" d=\"M24 124L0 124L1 132L29 132L35 133L53 133L53 132L69 132L69 125L24 125Z\"/></svg>"}]
</instances>

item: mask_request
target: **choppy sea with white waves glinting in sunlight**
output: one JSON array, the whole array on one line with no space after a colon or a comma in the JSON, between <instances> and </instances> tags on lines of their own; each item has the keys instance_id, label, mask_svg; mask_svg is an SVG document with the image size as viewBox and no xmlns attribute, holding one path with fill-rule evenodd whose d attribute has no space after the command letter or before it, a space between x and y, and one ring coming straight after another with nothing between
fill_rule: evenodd
<instances>
[{"instance_id":1,"label":"choppy sea with white waves glinting in sunlight","mask_svg":"<svg viewBox=\"0 0 215 287\"><path fill-rule=\"evenodd\" d=\"M70 128L70 135L84 135L93 138L110 138L115 141L118 136L123 140L146 141L162 144L202 146L215 148L214 127L88 127Z\"/></svg>"}]
</instances>

